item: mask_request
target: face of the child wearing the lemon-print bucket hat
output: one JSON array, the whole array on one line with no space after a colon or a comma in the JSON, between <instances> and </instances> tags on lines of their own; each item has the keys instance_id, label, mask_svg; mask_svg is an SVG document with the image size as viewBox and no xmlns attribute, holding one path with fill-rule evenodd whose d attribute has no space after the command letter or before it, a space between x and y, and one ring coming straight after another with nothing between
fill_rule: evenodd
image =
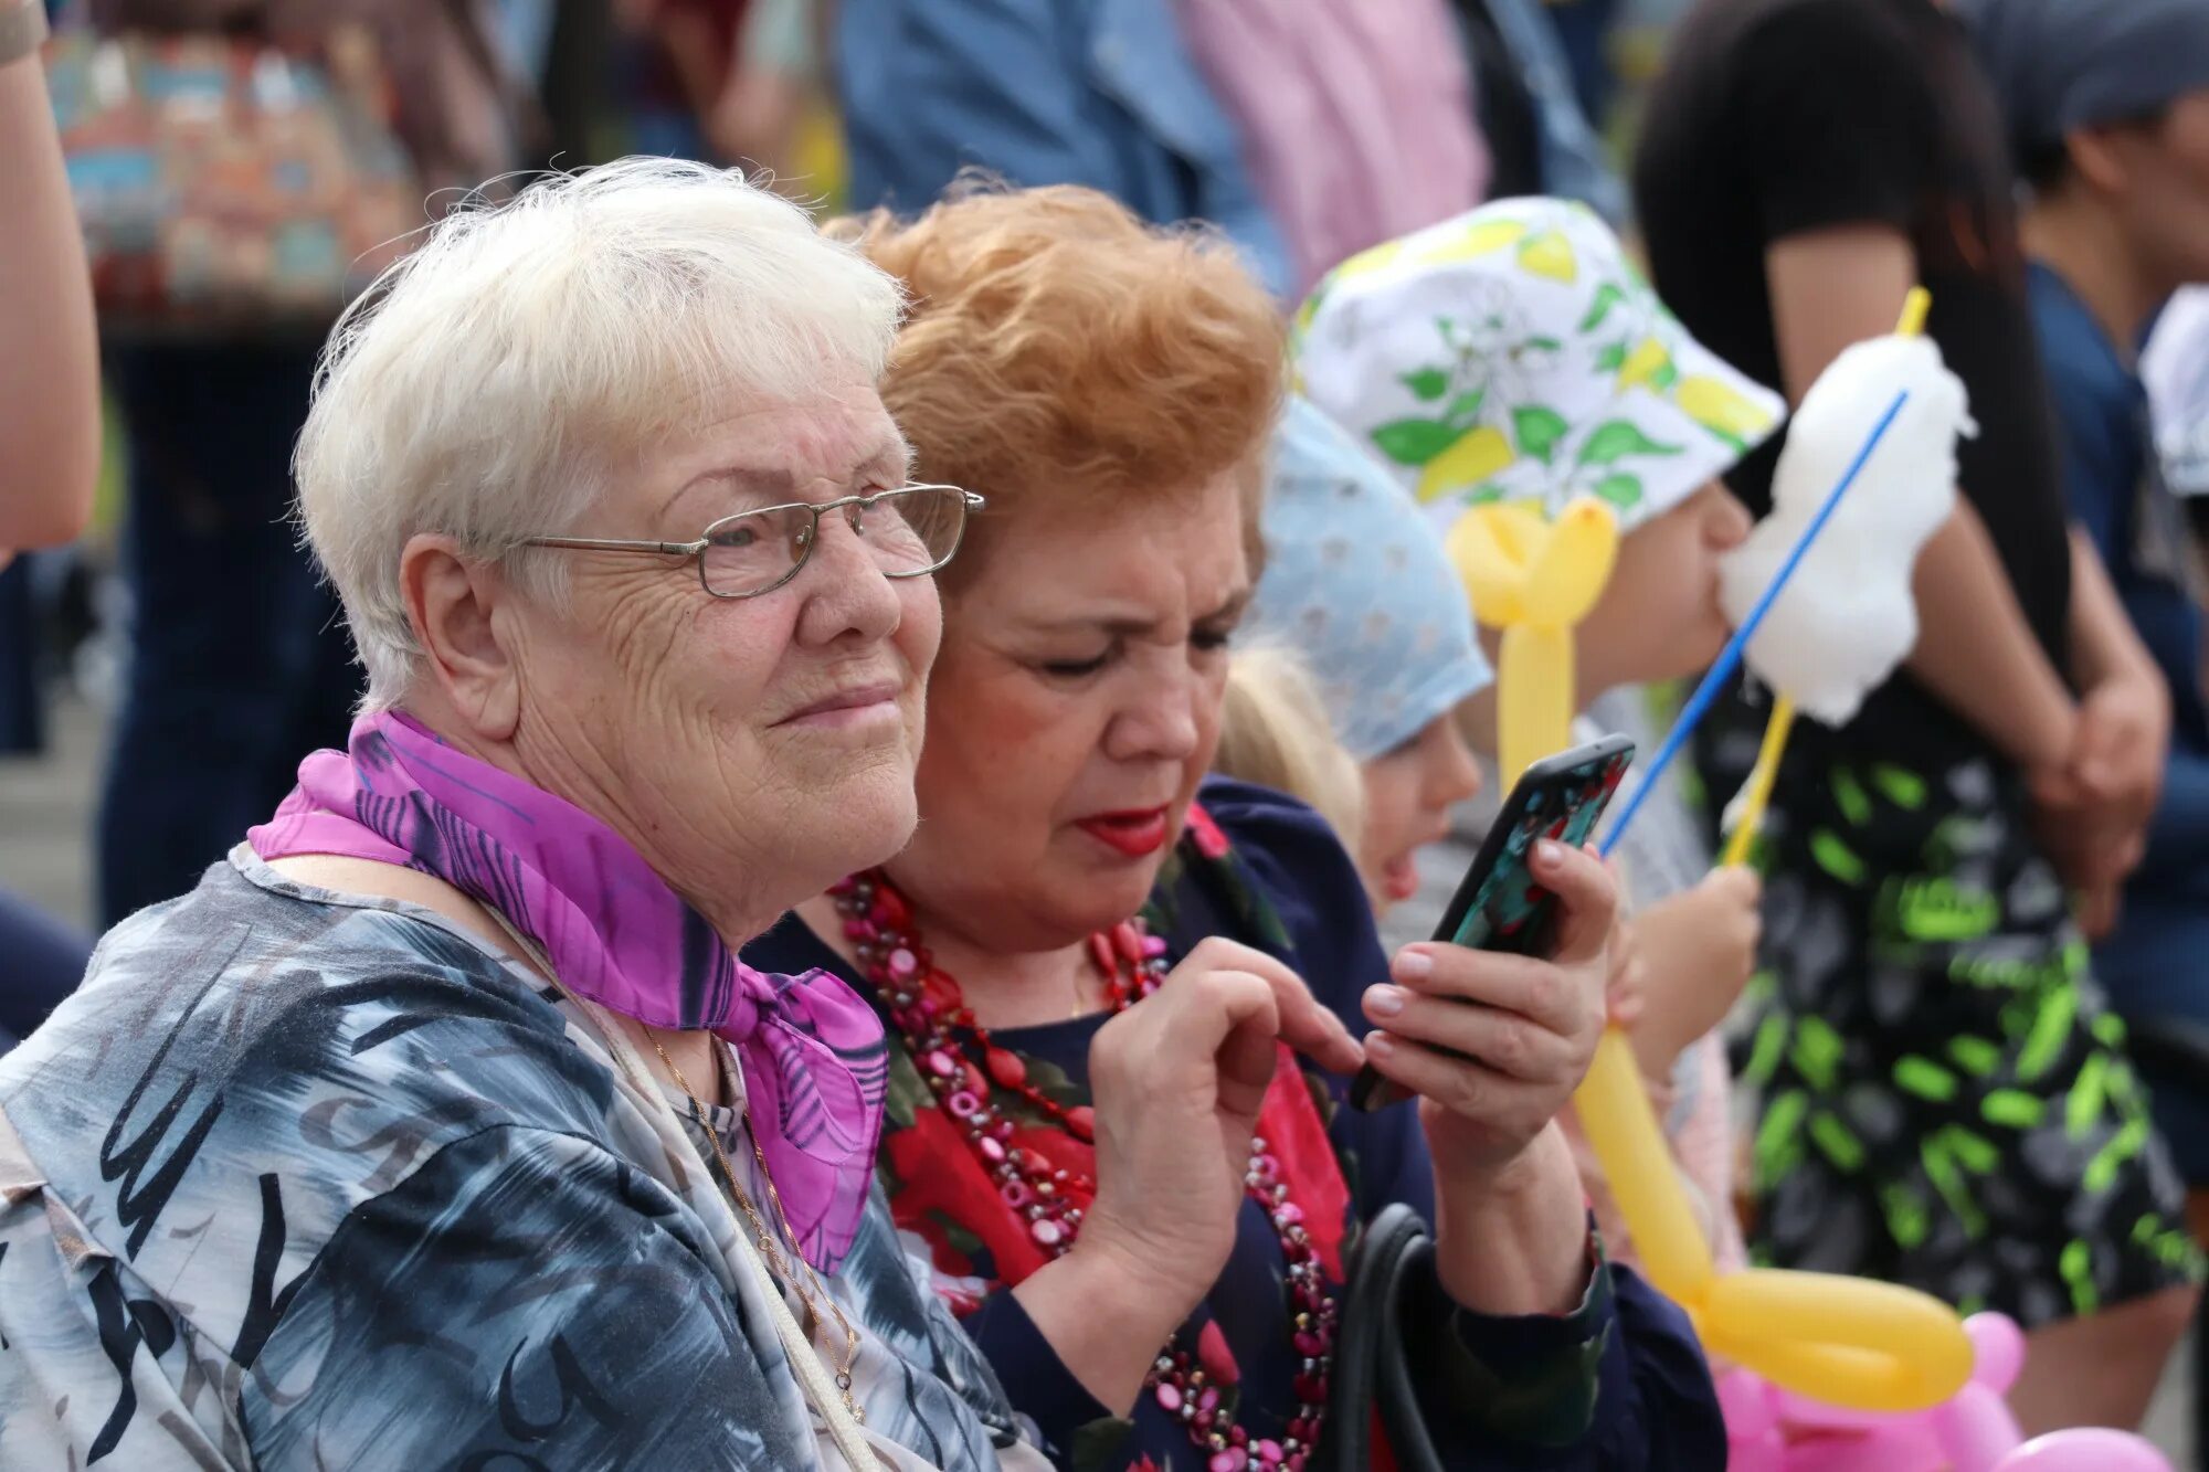
<instances>
[{"instance_id":1,"label":"face of the child wearing the lemon-print bucket hat","mask_svg":"<svg viewBox=\"0 0 2209 1472\"><path fill-rule=\"evenodd\" d=\"M1579 625L1579 687L1694 674L1725 648L1719 559L1750 535L1750 513L1719 482L1619 539L1619 561Z\"/></svg>"}]
</instances>

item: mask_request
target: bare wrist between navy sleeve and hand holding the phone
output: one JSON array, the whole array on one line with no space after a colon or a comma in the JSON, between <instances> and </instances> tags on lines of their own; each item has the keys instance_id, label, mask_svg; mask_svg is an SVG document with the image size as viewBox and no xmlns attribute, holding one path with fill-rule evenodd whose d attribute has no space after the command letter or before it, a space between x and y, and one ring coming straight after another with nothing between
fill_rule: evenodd
<instances>
[{"instance_id":1,"label":"bare wrist between navy sleeve and hand holding the phone","mask_svg":"<svg viewBox=\"0 0 2209 1472\"><path fill-rule=\"evenodd\" d=\"M1436 1180L1436 1273L1493 1317L1571 1313L1588 1293L1588 1200L1551 1121L1493 1180Z\"/></svg>"}]
</instances>

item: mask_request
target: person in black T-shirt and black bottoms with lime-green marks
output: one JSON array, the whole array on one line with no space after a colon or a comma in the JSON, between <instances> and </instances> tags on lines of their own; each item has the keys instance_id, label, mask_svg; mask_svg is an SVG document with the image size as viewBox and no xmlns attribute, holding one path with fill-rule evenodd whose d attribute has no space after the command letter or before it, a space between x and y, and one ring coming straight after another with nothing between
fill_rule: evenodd
<instances>
[{"instance_id":1,"label":"person in black T-shirt and black bottoms with lime-green marks","mask_svg":"<svg viewBox=\"0 0 2209 1472\"><path fill-rule=\"evenodd\" d=\"M2167 696L2072 544L2001 113L1933 0L1703 0L1648 106L1657 285L1800 400L1913 285L1970 391L1920 643L1840 732L1798 727L1765 831L1752 1249L2030 1333L2030 1430L2132 1426L2196 1300L2182 1187L2094 984L2160 778ZM1774 440L1732 473L1769 508ZM1714 791L1761 712L1712 732Z\"/></svg>"}]
</instances>

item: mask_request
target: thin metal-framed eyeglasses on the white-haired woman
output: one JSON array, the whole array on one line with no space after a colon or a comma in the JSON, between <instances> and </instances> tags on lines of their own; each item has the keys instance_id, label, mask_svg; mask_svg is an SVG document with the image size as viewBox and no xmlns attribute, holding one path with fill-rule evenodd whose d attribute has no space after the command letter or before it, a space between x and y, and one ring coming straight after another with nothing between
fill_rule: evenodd
<instances>
[{"instance_id":1,"label":"thin metal-framed eyeglasses on the white-haired woman","mask_svg":"<svg viewBox=\"0 0 2209 1472\"><path fill-rule=\"evenodd\" d=\"M603 537L530 537L521 546L590 553L656 553L696 557L698 581L716 599L755 599L797 577L822 539L822 515L842 511L853 535L884 577L928 577L952 559L968 513L983 500L959 486L899 486L835 502L791 502L740 511L705 528L696 542L610 542Z\"/></svg>"}]
</instances>

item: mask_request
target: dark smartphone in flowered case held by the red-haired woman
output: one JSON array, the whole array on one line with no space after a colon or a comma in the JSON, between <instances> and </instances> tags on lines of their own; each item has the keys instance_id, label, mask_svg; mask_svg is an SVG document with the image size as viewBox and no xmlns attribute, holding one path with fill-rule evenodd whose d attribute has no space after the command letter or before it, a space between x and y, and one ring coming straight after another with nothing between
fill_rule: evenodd
<instances>
[{"instance_id":1,"label":"dark smartphone in flowered case held by the red-haired woman","mask_svg":"<svg viewBox=\"0 0 2209 1472\"><path fill-rule=\"evenodd\" d=\"M1588 842L1632 760L1630 738L1604 736L1526 767L1442 911L1434 939L1469 950L1549 955L1557 944L1557 895L1535 882L1529 869L1533 847L1542 838L1575 849ZM1405 1092L1370 1063L1350 1085L1356 1110L1381 1110L1401 1098Z\"/></svg>"}]
</instances>

